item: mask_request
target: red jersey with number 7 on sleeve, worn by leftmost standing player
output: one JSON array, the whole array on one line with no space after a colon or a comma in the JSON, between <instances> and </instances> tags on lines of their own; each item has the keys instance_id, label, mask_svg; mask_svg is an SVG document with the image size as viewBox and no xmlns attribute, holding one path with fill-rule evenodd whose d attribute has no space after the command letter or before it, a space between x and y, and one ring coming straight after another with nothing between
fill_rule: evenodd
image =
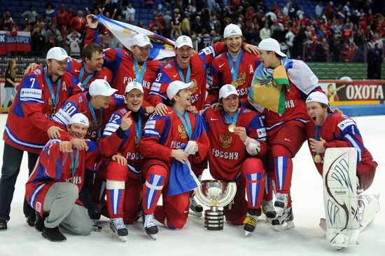
<instances>
[{"instance_id":1,"label":"red jersey with number 7 on sleeve, worn by leftmost standing player","mask_svg":"<svg viewBox=\"0 0 385 256\"><path fill-rule=\"evenodd\" d=\"M45 69L38 67L23 76L3 134L7 144L35 154L43 149L49 140L47 130L55 125L51 117L71 95L82 91L78 80L69 72L60 79L59 90L57 86L52 83L53 95L57 97L55 107L45 81Z\"/></svg>"}]
</instances>

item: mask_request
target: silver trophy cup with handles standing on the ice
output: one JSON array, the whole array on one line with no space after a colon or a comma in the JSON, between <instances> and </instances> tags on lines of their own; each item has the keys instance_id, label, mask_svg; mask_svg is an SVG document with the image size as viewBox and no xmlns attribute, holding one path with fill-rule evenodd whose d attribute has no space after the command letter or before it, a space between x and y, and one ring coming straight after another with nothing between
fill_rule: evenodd
<instances>
[{"instance_id":1,"label":"silver trophy cup with handles standing on the ice","mask_svg":"<svg viewBox=\"0 0 385 256\"><path fill-rule=\"evenodd\" d=\"M200 187L195 188L195 196L210 210L204 211L204 228L207 230L223 229L223 210L220 207L227 206L237 192L235 182L222 180L202 180Z\"/></svg>"}]
</instances>

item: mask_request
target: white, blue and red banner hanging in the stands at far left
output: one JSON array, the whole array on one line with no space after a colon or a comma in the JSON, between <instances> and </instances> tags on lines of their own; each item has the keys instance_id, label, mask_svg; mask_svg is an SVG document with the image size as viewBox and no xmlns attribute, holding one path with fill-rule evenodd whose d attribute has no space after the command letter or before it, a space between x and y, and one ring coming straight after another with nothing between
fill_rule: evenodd
<instances>
[{"instance_id":1,"label":"white, blue and red banner hanging in the stands at far left","mask_svg":"<svg viewBox=\"0 0 385 256\"><path fill-rule=\"evenodd\" d=\"M10 51L31 51L31 33L18 32L11 36L10 32L0 31L0 55L6 55Z\"/></svg>"}]
</instances>

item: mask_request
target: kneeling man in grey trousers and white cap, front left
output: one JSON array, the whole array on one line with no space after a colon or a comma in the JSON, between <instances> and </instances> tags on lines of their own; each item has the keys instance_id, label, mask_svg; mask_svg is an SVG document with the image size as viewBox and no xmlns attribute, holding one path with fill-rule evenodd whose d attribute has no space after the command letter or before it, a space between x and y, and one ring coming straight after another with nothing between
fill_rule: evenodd
<instances>
[{"instance_id":1,"label":"kneeling man in grey trousers and white cap, front left","mask_svg":"<svg viewBox=\"0 0 385 256\"><path fill-rule=\"evenodd\" d=\"M92 231L87 209L78 199L85 170L97 170L100 156L95 142L83 140L88 126L84 114L74 114L67 126L74 139L48 141L25 184L25 198L38 214L35 228L50 241L66 241L59 227L79 235Z\"/></svg>"}]
</instances>

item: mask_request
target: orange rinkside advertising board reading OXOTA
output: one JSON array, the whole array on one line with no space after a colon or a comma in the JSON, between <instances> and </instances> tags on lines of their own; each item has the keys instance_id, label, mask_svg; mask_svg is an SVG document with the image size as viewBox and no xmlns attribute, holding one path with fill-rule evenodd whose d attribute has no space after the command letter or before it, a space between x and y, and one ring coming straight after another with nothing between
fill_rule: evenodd
<instances>
[{"instance_id":1,"label":"orange rinkside advertising board reading OXOTA","mask_svg":"<svg viewBox=\"0 0 385 256\"><path fill-rule=\"evenodd\" d=\"M328 96L330 105L384 104L385 81L321 80L318 84Z\"/></svg>"}]
</instances>

